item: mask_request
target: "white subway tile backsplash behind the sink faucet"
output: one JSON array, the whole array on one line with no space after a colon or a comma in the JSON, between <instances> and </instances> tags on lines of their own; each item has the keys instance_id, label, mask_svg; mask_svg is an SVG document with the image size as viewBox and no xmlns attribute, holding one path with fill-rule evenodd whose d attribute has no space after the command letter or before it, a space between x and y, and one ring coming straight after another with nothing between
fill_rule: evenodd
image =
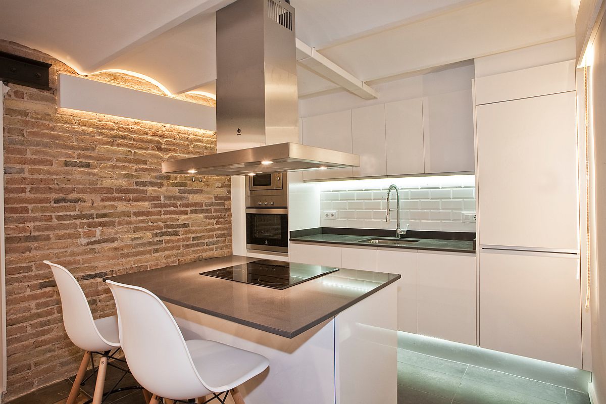
<instances>
[{"instance_id":1,"label":"white subway tile backsplash behind the sink faucet","mask_svg":"<svg viewBox=\"0 0 606 404\"><path fill-rule=\"evenodd\" d=\"M406 177L321 183L321 210L337 211L337 220L321 217L324 227L396 228L396 212L385 222L387 187L398 185L402 228L410 230L475 231L463 223L463 212L475 213L473 176ZM396 196L390 195L390 208Z\"/></svg>"}]
</instances>

